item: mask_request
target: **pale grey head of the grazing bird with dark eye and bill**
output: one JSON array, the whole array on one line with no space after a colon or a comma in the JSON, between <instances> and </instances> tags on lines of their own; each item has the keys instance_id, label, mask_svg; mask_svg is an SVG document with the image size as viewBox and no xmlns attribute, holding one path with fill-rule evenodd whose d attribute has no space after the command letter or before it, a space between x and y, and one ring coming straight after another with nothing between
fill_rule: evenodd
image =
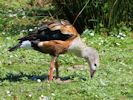
<instances>
[{"instance_id":1,"label":"pale grey head of the grazing bird with dark eye and bill","mask_svg":"<svg viewBox=\"0 0 133 100\"><path fill-rule=\"evenodd\" d=\"M99 55L96 49L92 47L87 47L83 49L82 56L86 59L90 67L91 78L96 72L96 69L99 66Z\"/></svg>"}]
</instances>

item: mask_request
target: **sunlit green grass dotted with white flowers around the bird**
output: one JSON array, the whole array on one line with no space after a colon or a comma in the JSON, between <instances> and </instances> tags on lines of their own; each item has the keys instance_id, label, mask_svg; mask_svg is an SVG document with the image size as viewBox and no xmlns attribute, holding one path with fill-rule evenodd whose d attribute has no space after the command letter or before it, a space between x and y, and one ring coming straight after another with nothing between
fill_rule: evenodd
<instances>
[{"instance_id":1,"label":"sunlit green grass dotted with white flowers around the bird","mask_svg":"<svg viewBox=\"0 0 133 100\"><path fill-rule=\"evenodd\" d=\"M5 1L6 2L6 1ZM8 8L7 8L8 10ZM0 99L1 100L132 100L133 99L133 39L131 32L123 39L113 36L82 35L87 45L95 47L100 55L100 67L93 79L87 63L72 54L59 57L61 78L70 83L48 82L51 57L34 50L19 49L8 52L25 35L27 25L22 17L6 16L0 19ZM4 18L8 19L6 21ZM17 20L16 20L17 19ZM28 22L34 18L26 17ZM19 20L19 21L18 21ZM26 21L27 22L27 21ZM6 26L4 24L6 23ZM29 23L28 23L29 24ZM15 28L14 26L17 26ZM4 27L3 27L4 26ZM29 27L29 26L28 26ZM77 68L77 67L80 68ZM54 72L55 75L55 72Z\"/></svg>"}]
</instances>

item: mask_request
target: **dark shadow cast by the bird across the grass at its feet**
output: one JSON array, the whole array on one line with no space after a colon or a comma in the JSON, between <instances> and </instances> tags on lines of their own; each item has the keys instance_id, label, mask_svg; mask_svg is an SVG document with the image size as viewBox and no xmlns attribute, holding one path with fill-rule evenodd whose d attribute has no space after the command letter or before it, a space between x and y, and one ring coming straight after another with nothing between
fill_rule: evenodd
<instances>
[{"instance_id":1,"label":"dark shadow cast by the bird across the grass at its feet","mask_svg":"<svg viewBox=\"0 0 133 100\"><path fill-rule=\"evenodd\" d=\"M5 78L0 78L0 81L2 81L2 82L5 80L10 81L10 82L26 81L26 80L37 81L38 79L40 79L41 81L47 81L48 77L49 77L48 74L28 75L23 72L21 72L19 74L8 73ZM78 78L78 79L84 80L84 81L87 80L85 77L80 76L80 75L75 75L75 74L61 77L60 79L61 79L61 81L67 81L67 80L74 80L74 78ZM54 79L56 79L56 77L54 77Z\"/></svg>"}]
</instances>

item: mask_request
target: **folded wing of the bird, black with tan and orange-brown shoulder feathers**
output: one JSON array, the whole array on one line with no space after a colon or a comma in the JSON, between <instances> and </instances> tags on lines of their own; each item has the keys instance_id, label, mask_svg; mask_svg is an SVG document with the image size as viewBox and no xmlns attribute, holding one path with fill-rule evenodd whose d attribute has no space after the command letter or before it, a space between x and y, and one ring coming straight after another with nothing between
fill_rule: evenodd
<instances>
[{"instance_id":1,"label":"folded wing of the bird, black with tan and orange-brown shoulder feathers","mask_svg":"<svg viewBox=\"0 0 133 100\"><path fill-rule=\"evenodd\" d=\"M76 29L66 20L44 23L40 25L35 31L31 32L25 37L20 38L21 41L25 40L62 40L65 41L71 37L77 36Z\"/></svg>"}]
</instances>

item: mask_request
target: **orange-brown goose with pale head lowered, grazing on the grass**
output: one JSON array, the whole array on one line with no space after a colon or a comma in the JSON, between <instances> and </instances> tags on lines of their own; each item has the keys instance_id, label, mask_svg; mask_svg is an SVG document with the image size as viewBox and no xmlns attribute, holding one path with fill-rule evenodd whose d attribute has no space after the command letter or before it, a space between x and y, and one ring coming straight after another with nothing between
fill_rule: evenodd
<instances>
[{"instance_id":1,"label":"orange-brown goose with pale head lowered, grazing on the grass","mask_svg":"<svg viewBox=\"0 0 133 100\"><path fill-rule=\"evenodd\" d=\"M84 58L89 65L91 78L99 66L98 51L82 41L79 33L68 20L41 23L37 29L19 38L18 44L9 48L9 51L15 51L18 48L32 48L52 56L49 81L53 80L54 66L56 78L60 79L58 57L61 54L74 53L76 56Z\"/></svg>"}]
</instances>

